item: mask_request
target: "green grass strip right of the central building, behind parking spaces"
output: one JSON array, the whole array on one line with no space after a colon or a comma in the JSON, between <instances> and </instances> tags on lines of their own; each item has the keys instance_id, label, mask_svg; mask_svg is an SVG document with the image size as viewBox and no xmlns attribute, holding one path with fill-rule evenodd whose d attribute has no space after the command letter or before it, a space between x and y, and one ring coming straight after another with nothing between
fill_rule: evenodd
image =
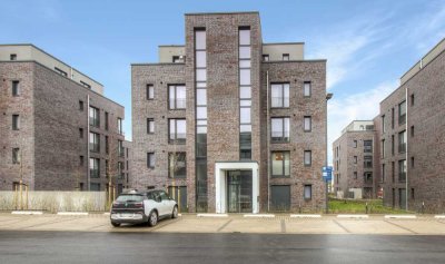
<instances>
[{"instance_id":1,"label":"green grass strip right of the central building, behind parking spaces","mask_svg":"<svg viewBox=\"0 0 445 264\"><path fill-rule=\"evenodd\" d=\"M366 212L366 203L368 212ZM407 214L404 209L396 209L383 205L382 199L336 199L329 198L330 214Z\"/></svg>"}]
</instances>

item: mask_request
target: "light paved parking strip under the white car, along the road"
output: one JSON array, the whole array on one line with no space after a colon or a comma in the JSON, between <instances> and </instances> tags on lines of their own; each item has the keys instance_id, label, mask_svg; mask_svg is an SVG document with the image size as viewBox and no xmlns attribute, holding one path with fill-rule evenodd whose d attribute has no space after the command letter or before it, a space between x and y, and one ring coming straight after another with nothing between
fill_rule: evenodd
<instances>
[{"instance_id":1,"label":"light paved parking strip under the white car, along the road","mask_svg":"<svg viewBox=\"0 0 445 264\"><path fill-rule=\"evenodd\" d=\"M198 217L182 214L177 219L165 219L155 227L122 225L112 227L109 216L89 214L72 215L12 215L0 213L3 231L73 231L73 232L154 232L154 233L257 233L257 234L386 234L386 235L445 235L445 219L417 216L414 219L348 218L336 215L318 218L294 218L289 215L274 217Z\"/></svg>"}]
</instances>

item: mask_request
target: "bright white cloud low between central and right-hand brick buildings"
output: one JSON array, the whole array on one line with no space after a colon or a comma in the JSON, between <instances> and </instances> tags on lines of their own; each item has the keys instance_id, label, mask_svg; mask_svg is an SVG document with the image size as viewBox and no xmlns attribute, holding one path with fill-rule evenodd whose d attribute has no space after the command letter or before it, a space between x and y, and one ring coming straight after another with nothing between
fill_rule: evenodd
<instances>
[{"instance_id":1,"label":"bright white cloud low between central and right-hand brick buildings","mask_svg":"<svg viewBox=\"0 0 445 264\"><path fill-rule=\"evenodd\" d=\"M328 153L332 163L333 141L342 135L353 120L372 120L379 113L380 101L398 87L398 80L383 82L376 88L343 98L335 98L328 102Z\"/></svg>"}]
</instances>

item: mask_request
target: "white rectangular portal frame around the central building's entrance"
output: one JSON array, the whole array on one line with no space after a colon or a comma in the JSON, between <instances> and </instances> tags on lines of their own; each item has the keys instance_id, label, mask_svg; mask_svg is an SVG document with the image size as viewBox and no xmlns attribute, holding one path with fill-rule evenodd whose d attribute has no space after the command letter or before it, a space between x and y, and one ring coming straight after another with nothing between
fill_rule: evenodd
<instances>
[{"instance_id":1,"label":"white rectangular portal frame around the central building's entrance","mask_svg":"<svg viewBox=\"0 0 445 264\"><path fill-rule=\"evenodd\" d=\"M227 172L250 170L251 172L251 213L259 213L259 176L258 163L256 162L217 162L215 163L215 188L216 188L216 213L228 212L227 207Z\"/></svg>"}]
</instances>

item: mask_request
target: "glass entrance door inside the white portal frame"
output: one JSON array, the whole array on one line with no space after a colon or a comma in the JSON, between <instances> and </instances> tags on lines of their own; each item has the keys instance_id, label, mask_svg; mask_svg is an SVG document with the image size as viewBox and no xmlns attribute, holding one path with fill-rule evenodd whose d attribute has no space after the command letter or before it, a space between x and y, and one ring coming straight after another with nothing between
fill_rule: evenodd
<instances>
[{"instance_id":1,"label":"glass entrance door inside the white portal frame","mask_svg":"<svg viewBox=\"0 0 445 264\"><path fill-rule=\"evenodd\" d=\"M251 170L227 172L228 213L251 213Z\"/></svg>"}]
</instances>

